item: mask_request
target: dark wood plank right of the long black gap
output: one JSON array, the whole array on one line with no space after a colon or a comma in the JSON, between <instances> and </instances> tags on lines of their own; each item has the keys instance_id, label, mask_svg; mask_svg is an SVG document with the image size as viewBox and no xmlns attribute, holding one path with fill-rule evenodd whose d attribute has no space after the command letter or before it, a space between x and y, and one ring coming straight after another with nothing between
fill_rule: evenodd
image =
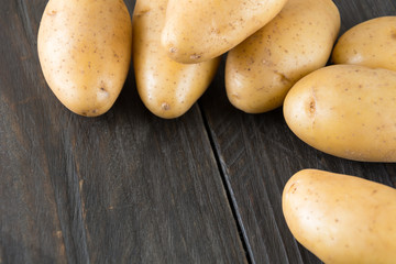
<instances>
[{"instance_id":1,"label":"dark wood plank right of the long black gap","mask_svg":"<svg viewBox=\"0 0 396 264\"><path fill-rule=\"evenodd\" d=\"M393 0L334 1L341 33L380 15L395 15ZM288 231L282 212L287 179L302 168L356 175L396 187L396 165L351 162L314 150L287 128L282 109L246 114L224 91L223 69L200 100L252 263L320 263Z\"/></svg>"}]
</instances>

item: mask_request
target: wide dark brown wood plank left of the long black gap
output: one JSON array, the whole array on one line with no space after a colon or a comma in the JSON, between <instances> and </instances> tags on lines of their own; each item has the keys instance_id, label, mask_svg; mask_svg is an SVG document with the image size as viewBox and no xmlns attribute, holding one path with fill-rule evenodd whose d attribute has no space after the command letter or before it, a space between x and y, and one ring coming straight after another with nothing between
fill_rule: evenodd
<instances>
[{"instance_id":1,"label":"wide dark brown wood plank left of the long black gap","mask_svg":"<svg viewBox=\"0 0 396 264\"><path fill-rule=\"evenodd\" d=\"M0 9L0 263L245 263L199 108L155 118L131 72L107 114L66 110L37 61L45 3Z\"/></svg>"}]
</instances>

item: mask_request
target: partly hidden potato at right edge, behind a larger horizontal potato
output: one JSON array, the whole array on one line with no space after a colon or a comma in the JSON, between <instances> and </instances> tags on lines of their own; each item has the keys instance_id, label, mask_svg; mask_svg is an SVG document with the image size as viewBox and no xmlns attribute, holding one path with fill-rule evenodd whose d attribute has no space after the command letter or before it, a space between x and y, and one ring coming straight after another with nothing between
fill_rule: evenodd
<instances>
[{"instance_id":1,"label":"partly hidden potato at right edge, behind a larger horizontal potato","mask_svg":"<svg viewBox=\"0 0 396 264\"><path fill-rule=\"evenodd\" d=\"M346 31L332 53L334 64L396 70L396 16L375 18Z\"/></svg>"}]
</instances>

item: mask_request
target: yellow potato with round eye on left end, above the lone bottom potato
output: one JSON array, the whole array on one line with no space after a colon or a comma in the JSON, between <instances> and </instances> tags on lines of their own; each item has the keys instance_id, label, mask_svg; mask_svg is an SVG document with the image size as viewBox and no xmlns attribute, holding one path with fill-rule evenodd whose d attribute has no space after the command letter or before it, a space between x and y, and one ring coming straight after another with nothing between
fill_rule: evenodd
<instances>
[{"instance_id":1,"label":"yellow potato with round eye on left end, above the lone bottom potato","mask_svg":"<svg viewBox=\"0 0 396 264\"><path fill-rule=\"evenodd\" d=\"M396 162L396 72L333 65L287 94L285 120L309 145L363 162Z\"/></svg>"}]
</instances>

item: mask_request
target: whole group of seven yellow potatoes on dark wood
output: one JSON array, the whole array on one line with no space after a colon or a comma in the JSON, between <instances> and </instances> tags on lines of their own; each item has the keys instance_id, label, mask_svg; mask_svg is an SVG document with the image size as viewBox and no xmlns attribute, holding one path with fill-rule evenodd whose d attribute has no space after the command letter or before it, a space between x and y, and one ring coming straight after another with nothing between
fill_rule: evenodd
<instances>
[{"instance_id":1,"label":"whole group of seven yellow potatoes on dark wood","mask_svg":"<svg viewBox=\"0 0 396 264\"><path fill-rule=\"evenodd\" d=\"M122 0L50 0L37 48L55 96L86 117L112 107L131 58L147 109L180 117L227 54L235 108L283 106L290 130L312 147L396 162L396 16L338 40L339 30L331 0L138 0L132 20ZM285 186L283 208L296 239L327 263L396 261L395 189L306 169Z\"/></svg>"}]
</instances>

